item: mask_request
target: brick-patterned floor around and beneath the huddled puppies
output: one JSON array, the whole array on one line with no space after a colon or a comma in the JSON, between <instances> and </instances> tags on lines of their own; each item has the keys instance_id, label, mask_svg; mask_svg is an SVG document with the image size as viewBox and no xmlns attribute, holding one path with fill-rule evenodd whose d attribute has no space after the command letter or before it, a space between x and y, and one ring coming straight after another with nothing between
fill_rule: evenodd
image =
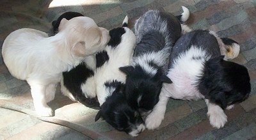
<instances>
[{"instance_id":1,"label":"brick-patterned floor around and beneath the huddled puppies","mask_svg":"<svg viewBox=\"0 0 256 140\"><path fill-rule=\"evenodd\" d=\"M60 3L61 2L61 3ZM72 102L60 93L54 101L54 118L76 122L99 132L97 139L256 139L256 1L255 0L1 0L0 46L15 29L30 27L49 31L51 21L67 11L81 12L99 26L113 29L129 16L129 27L147 10L182 13L186 6L193 29L211 29L241 45L239 56L232 60L246 66L250 73L252 94L248 100L225 111L225 127L212 128L203 100L170 100L166 116L157 130L145 130L138 137L118 132L104 120L94 122L97 109ZM1 49L1 47L0 47ZM1 55L1 54L0 54ZM26 81L12 77L0 56L0 99L34 110ZM3 100L2 100L3 101ZM0 100L0 102L2 102ZM107 138L106 138L107 137ZM26 114L0 108L0 139L90 139L70 128L46 123Z\"/></svg>"}]
</instances>

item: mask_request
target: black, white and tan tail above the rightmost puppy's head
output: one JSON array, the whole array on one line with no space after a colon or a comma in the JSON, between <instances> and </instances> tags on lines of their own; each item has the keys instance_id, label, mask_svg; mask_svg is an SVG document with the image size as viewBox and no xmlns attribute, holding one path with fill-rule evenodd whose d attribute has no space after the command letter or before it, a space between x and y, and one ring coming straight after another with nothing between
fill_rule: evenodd
<instances>
[{"instance_id":1,"label":"black, white and tan tail above the rightmost puppy's head","mask_svg":"<svg viewBox=\"0 0 256 140\"><path fill-rule=\"evenodd\" d=\"M234 59L239 55L240 45L230 38L221 38L225 45L225 58Z\"/></svg>"}]
</instances>

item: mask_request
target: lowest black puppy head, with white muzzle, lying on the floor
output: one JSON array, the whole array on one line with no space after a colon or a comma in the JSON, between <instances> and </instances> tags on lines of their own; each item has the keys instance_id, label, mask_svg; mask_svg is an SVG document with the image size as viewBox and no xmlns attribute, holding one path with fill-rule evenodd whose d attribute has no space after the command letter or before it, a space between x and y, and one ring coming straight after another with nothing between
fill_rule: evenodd
<instances>
[{"instance_id":1,"label":"lowest black puppy head, with white muzzle, lying on the floor","mask_svg":"<svg viewBox=\"0 0 256 140\"><path fill-rule=\"evenodd\" d=\"M145 130L145 123L140 113L129 106L124 95L124 86L115 89L113 94L102 104L95 121L102 117L116 130L124 131L131 136L138 136Z\"/></svg>"}]
</instances>

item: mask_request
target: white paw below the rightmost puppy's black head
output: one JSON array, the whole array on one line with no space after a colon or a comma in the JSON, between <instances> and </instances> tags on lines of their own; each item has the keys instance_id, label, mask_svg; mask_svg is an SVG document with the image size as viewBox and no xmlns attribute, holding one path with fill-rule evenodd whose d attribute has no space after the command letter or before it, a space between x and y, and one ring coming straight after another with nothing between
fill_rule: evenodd
<instances>
[{"instance_id":1,"label":"white paw below the rightmost puppy's black head","mask_svg":"<svg viewBox=\"0 0 256 140\"><path fill-rule=\"evenodd\" d=\"M227 123L227 115L223 111L209 111L207 116L209 117L212 127L221 128L224 127L225 123Z\"/></svg>"}]
</instances>

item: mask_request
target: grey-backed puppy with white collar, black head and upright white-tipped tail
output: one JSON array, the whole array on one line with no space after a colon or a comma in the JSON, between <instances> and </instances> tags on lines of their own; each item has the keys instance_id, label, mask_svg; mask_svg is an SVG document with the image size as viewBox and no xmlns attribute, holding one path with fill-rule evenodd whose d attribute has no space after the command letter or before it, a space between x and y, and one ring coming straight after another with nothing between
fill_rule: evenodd
<instances>
[{"instance_id":1,"label":"grey-backed puppy with white collar, black head and upright white-tipped tail","mask_svg":"<svg viewBox=\"0 0 256 140\"><path fill-rule=\"evenodd\" d=\"M179 19L186 21L189 11L182 8L184 13ZM171 13L150 10L136 21L132 65L120 70L127 75L127 100L140 113L147 113L157 104L163 82L172 83L166 72L172 47L182 35L179 19Z\"/></svg>"}]
</instances>

